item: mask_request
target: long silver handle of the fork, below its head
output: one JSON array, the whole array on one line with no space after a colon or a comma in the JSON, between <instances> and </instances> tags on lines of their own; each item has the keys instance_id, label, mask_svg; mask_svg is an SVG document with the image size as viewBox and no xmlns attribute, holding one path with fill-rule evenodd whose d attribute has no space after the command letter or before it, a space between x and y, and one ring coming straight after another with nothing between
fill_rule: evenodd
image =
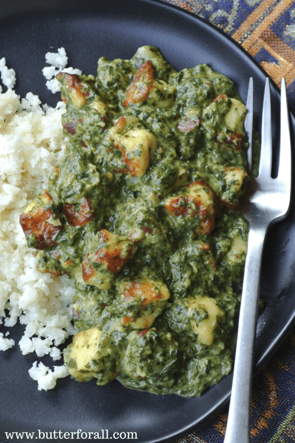
<instances>
[{"instance_id":1,"label":"long silver handle of the fork, below its head","mask_svg":"<svg viewBox=\"0 0 295 443\"><path fill-rule=\"evenodd\" d=\"M250 443L250 405L260 271L267 227L249 230L236 341L233 388L224 443Z\"/></svg>"}]
</instances>

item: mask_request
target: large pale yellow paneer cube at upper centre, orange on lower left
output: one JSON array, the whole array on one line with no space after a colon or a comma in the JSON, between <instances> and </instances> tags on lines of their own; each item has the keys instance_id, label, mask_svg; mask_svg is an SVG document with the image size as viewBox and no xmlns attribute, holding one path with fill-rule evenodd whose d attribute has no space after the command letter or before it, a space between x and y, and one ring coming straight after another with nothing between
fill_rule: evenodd
<instances>
[{"instance_id":1,"label":"large pale yellow paneer cube at upper centre, orange on lower left","mask_svg":"<svg viewBox=\"0 0 295 443\"><path fill-rule=\"evenodd\" d=\"M130 175L142 177L158 149L158 140L152 132L145 128L132 128L136 125L136 121L137 119L132 117L121 117L110 129L110 136L114 140L115 148L121 151ZM125 129L127 126L131 128Z\"/></svg>"}]
</instances>

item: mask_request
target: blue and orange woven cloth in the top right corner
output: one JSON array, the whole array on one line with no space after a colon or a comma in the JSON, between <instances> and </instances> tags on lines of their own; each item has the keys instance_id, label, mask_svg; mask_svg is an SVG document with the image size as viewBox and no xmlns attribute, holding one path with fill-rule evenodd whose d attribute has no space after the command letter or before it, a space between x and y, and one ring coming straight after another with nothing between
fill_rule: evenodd
<instances>
[{"instance_id":1,"label":"blue and orange woven cloth in the top right corner","mask_svg":"<svg viewBox=\"0 0 295 443\"><path fill-rule=\"evenodd\" d=\"M278 84L285 77L295 109L294 0L166 0L221 28Z\"/></svg>"}]
</instances>

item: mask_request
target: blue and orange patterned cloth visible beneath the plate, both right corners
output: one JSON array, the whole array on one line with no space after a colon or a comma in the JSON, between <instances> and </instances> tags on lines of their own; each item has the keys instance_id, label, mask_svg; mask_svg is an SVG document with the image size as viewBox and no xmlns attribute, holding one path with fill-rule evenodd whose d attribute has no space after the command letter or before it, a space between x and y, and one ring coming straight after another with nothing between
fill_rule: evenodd
<instances>
[{"instance_id":1,"label":"blue and orange patterned cloth visible beneath the plate, both right corners","mask_svg":"<svg viewBox=\"0 0 295 443\"><path fill-rule=\"evenodd\" d=\"M166 1L223 29L278 86L285 77L295 110L294 0ZM295 330L255 377L251 409L252 443L295 443ZM177 443L222 443L227 416L228 408Z\"/></svg>"}]
</instances>

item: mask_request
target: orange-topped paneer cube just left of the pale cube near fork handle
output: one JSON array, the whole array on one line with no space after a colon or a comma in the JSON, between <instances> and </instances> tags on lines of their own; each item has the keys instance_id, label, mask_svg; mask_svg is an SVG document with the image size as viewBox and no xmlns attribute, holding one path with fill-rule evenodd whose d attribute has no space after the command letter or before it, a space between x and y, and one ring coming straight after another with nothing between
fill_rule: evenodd
<instances>
[{"instance_id":1,"label":"orange-topped paneer cube just left of the pale cube near fork handle","mask_svg":"<svg viewBox=\"0 0 295 443\"><path fill-rule=\"evenodd\" d=\"M152 326L168 304L170 292L162 281L141 278L124 280L118 286L122 295L122 312L118 329L146 329Z\"/></svg>"}]
</instances>

